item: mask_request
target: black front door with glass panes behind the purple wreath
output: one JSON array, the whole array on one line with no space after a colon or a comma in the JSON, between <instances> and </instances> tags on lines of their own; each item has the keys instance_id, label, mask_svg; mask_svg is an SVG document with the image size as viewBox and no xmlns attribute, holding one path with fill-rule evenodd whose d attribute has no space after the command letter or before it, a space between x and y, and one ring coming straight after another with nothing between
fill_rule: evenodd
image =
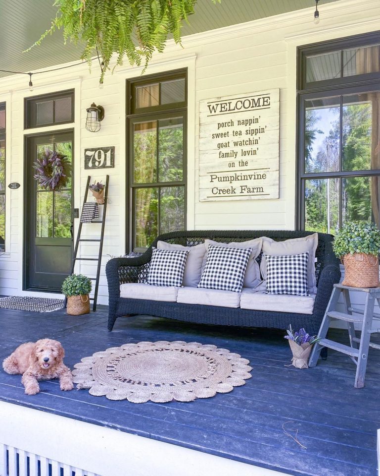
<instances>
[{"instance_id":1,"label":"black front door with glass panes behind the purple wreath","mask_svg":"<svg viewBox=\"0 0 380 476\"><path fill-rule=\"evenodd\" d=\"M25 289L60 291L71 271L73 239L72 178L48 190L34 178L33 164L46 151L66 156L72 173L73 132L53 132L26 138Z\"/></svg>"}]
</instances>

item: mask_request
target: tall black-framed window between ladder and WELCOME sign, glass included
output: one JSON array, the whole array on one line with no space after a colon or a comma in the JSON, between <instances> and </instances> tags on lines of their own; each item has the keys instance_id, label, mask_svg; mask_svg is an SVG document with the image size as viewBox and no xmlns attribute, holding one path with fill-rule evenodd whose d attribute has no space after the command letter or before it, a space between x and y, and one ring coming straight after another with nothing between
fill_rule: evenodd
<instances>
[{"instance_id":1,"label":"tall black-framed window between ladder and WELCOME sign, glass included","mask_svg":"<svg viewBox=\"0 0 380 476\"><path fill-rule=\"evenodd\" d=\"M186 70L127 81L128 251L186 224Z\"/></svg>"}]
</instances>

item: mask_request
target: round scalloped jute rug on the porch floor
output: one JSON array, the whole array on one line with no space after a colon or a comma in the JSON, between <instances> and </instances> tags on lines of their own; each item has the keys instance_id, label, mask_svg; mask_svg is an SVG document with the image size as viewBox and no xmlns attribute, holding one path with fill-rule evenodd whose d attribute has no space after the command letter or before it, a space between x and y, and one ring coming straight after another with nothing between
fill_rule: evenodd
<instances>
[{"instance_id":1,"label":"round scalloped jute rug on the porch floor","mask_svg":"<svg viewBox=\"0 0 380 476\"><path fill-rule=\"evenodd\" d=\"M133 403L190 402L228 393L251 378L249 361L199 342L139 342L95 352L74 365L77 388Z\"/></svg>"}]
</instances>

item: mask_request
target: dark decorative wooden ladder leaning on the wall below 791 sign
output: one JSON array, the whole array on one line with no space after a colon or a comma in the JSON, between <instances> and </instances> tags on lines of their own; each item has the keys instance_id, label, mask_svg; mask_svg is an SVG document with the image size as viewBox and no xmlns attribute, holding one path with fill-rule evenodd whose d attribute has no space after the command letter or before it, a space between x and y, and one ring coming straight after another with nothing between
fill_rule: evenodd
<instances>
[{"instance_id":1,"label":"dark decorative wooden ladder leaning on the wall below 791 sign","mask_svg":"<svg viewBox=\"0 0 380 476\"><path fill-rule=\"evenodd\" d=\"M86 192L85 192L85 197L83 199L83 205L87 202L90 180L91 180L91 176L89 175L88 178L87 178ZM92 281L95 281L94 297L90 297L90 300L93 301L93 311L96 310L97 292L98 292L98 289L99 289L101 256L102 256L102 252L103 252L104 225L105 225L105 216L106 216L107 201L108 201L108 182L109 182L109 176L107 175L106 178L105 178L105 185L104 185L103 216L102 216L101 220L93 220L92 222L90 222L90 223L101 223L100 238L81 238L82 225L83 225L84 222L82 222L82 221L79 222L78 235L77 235L77 239L76 239L76 242L75 242L75 248L74 248L73 264L71 266L71 273L70 273L70 274L74 273L74 268L75 268L76 261L97 261L96 276L95 276L95 278L90 278ZM82 206L82 210L83 210L83 206ZM79 250L79 244L82 241L88 241L88 242L92 241L92 242L98 242L99 243L99 253L98 253L97 258L78 258L77 257L78 250ZM66 307L66 304L67 304L67 297L65 297L64 307Z\"/></svg>"}]
</instances>

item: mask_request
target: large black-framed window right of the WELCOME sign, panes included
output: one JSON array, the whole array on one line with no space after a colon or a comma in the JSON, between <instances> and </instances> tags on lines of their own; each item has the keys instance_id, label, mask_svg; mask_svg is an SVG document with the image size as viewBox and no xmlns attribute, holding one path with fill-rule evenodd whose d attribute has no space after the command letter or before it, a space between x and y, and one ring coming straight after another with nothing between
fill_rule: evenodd
<instances>
[{"instance_id":1,"label":"large black-framed window right of the WELCOME sign, panes included","mask_svg":"<svg viewBox=\"0 0 380 476\"><path fill-rule=\"evenodd\" d=\"M298 51L297 227L380 226L379 33Z\"/></svg>"}]
</instances>

